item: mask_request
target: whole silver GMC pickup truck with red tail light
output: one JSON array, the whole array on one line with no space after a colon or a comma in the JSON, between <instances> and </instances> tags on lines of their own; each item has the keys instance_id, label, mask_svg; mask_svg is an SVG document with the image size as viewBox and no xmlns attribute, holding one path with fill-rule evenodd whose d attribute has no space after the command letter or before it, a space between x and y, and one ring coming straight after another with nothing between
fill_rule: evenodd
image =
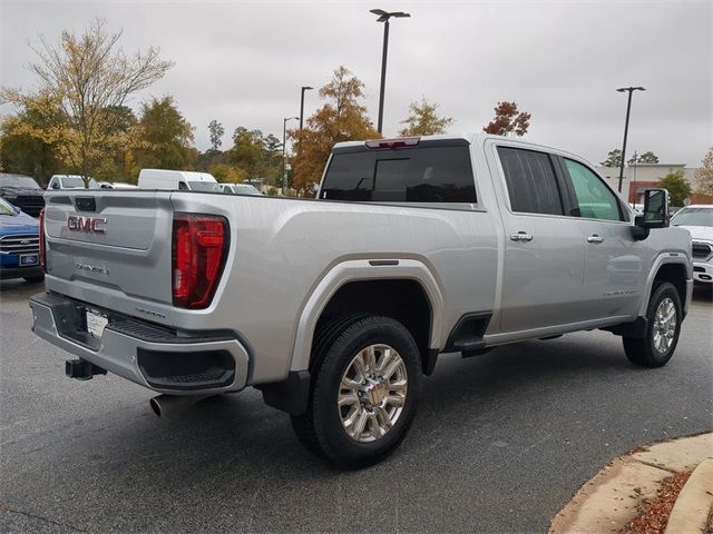
<instances>
[{"instance_id":1,"label":"whole silver GMC pickup truck with red tail light","mask_svg":"<svg viewBox=\"0 0 713 534\"><path fill-rule=\"evenodd\" d=\"M481 135L334 147L316 199L49 191L33 332L160 394L157 413L262 390L346 468L390 454L438 355L599 328L673 355L691 238L589 164ZM576 355L573 355L576 357Z\"/></svg>"}]
</instances>

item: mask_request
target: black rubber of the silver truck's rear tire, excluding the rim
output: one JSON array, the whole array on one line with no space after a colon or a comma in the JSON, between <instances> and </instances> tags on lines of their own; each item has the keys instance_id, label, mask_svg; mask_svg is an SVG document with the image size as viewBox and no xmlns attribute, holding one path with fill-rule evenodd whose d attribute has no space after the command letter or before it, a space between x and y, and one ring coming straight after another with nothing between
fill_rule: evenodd
<instances>
[{"instance_id":1,"label":"black rubber of the silver truck's rear tire, excluding the rim","mask_svg":"<svg viewBox=\"0 0 713 534\"><path fill-rule=\"evenodd\" d=\"M312 453L335 465L355 469L373 465L391 454L406 436L416 414L421 383L419 350L409 330L394 319L381 316L351 315L335 319L323 329L313 354L312 390L307 411L292 416L297 438ZM380 438L362 443L349 436L342 426L336 398L342 375L354 356L365 347L385 344L403 360L408 375L408 394L401 414Z\"/></svg>"}]
</instances>

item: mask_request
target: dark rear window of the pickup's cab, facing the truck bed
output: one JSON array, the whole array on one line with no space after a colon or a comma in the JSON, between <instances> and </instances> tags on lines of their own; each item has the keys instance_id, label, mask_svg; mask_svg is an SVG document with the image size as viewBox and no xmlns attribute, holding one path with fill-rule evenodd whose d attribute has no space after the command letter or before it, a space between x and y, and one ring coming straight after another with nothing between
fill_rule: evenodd
<instances>
[{"instance_id":1,"label":"dark rear window of the pickup's cab, facing the truck bed","mask_svg":"<svg viewBox=\"0 0 713 534\"><path fill-rule=\"evenodd\" d=\"M466 140L335 148L320 198L362 202L477 202Z\"/></svg>"}]
</instances>

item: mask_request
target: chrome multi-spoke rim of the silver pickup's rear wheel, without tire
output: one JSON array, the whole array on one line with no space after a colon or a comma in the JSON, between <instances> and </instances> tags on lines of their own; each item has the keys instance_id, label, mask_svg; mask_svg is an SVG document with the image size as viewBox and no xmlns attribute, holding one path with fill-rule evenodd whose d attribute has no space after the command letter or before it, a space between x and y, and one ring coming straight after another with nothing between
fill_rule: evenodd
<instances>
[{"instance_id":1,"label":"chrome multi-spoke rim of the silver pickup's rear wheel, without tire","mask_svg":"<svg viewBox=\"0 0 713 534\"><path fill-rule=\"evenodd\" d=\"M370 345L346 366L338 409L346 435L374 442L395 425L403 412L408 374L401 355L389 345Z\"/></svg>"}]
</instances>

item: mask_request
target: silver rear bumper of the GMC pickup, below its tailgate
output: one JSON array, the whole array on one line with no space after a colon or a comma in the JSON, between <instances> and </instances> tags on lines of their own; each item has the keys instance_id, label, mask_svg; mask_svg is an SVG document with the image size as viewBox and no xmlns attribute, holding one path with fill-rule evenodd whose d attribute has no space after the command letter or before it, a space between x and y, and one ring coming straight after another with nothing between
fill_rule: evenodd
<instances>
[{"instance_id":1,"label":"silver rear bumper of the GMC pickup, below its tailgate","mask_svg":"<svg viewBox=\"0 0 713 534\"><path fill-rule=\"evenodd\" d=\"M176 333L49 293L31 297L30 307L32 332L39 337L154 392L236 392L247 382L248 353L229 333ZM86 308L107 313L109 322L100 338L82 325Z\"/></svg>"}]
</instances>

